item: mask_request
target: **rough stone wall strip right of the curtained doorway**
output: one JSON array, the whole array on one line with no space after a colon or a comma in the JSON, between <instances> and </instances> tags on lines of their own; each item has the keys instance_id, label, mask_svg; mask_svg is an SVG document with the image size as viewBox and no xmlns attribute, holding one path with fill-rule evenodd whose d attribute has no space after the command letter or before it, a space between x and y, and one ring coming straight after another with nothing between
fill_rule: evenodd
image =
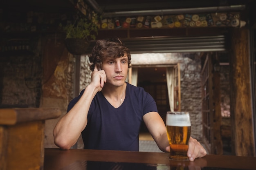
<instances>
[{"instance_id":1,"label":"rough stone wall strip right of the curtained doorway","mask_svg":"<svg viewBox=\"0 0 256 170\"><path fill-rule=\"evenodd\" d=\"M191 136L202 138L201 60L196 53L184 53L180 64L181 110L191 117Z\"/></svg>"}]
</instances>

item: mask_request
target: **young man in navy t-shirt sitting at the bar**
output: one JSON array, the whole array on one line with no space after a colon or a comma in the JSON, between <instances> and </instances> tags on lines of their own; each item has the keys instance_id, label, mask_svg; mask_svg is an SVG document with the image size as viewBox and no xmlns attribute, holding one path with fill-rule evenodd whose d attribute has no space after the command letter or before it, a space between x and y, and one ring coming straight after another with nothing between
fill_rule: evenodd
<instances>
[{"instance_id":1,"label":"young man in navy t-shirt sitting at the bar","mask_svg":"<svg viewBox=\"0 0 256 170\"><path fill-rule=\"evenodd\" d=\"M74 98L54 128L54 143L70 149L82 133L85 149L139 151L139 128L144 121L157 146L169 152L164 121L153 97L125 82L131 67L129 49L119 40L98 40L90 56L91 83ZM206 151L189 139L193 161Z\"/></svg>"}]
</instances>

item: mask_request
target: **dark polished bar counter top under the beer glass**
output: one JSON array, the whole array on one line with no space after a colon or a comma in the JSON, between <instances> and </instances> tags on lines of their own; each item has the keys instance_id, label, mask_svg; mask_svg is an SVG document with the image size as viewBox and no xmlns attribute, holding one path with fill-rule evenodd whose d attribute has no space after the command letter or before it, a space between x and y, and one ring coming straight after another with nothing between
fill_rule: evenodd
<instances>
[{"instance_id":1,"label":"dark polished bar counter top under the beer glass","mask_svg":"<svg viewBox=\"0 0 256 170\"><path fill-rule=\"evenodd\" d=\"M256 157L206 155L171 161L169 153L45 148L44 170L256 170Z\"/></svg>"}]
</instances>

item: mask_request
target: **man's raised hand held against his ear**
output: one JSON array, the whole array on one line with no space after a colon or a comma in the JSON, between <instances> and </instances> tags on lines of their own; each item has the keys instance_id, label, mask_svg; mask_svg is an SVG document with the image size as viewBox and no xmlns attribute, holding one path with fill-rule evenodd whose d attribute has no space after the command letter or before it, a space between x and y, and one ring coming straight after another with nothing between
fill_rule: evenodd
<instances>
[{"instance_id":1,"label":"man's raised hand held against his ear","mask_svg":"<svg viewBox=\"0 0 256 170\"><path fill-rule=\"evenodd\" d=\"M94 71L91 75L91 84L93 84L99 91L102 90L104 83L107 82L106 73L104 70L98 70L97 65L94 65Z\"/></svg>"}]
</instances>

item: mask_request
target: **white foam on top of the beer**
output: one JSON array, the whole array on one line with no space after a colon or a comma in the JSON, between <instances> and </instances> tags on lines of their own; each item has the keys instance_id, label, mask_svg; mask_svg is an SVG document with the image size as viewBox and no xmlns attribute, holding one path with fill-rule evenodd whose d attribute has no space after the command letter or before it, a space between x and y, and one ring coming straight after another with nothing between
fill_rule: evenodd
<instances>
[{"instance_id":1,"label":"white foam on top of the beer","mask_svg":"<svg viewBox=\"0 0 256 170\"><path fill-rule=\"evenodd\" d=\"M185 115L166 115L166 125L167 126L191 126L189 114Z\"/></svg>"}]
</instances>

